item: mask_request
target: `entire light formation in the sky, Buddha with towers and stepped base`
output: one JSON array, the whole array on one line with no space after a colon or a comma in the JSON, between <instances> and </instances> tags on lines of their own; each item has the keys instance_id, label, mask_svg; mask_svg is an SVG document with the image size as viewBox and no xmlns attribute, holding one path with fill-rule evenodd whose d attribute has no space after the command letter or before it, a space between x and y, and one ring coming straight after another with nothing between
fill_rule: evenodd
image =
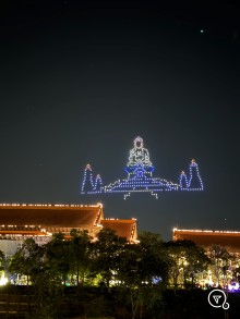
<instances>
[{"instance_id":1,"label":"entire light formation in the sky, Buddha with towers and stepped base","mask_svg":"<svg viewBox=\"0 0 240 319\"><path fill-rule=\"evenodd\" d=\"M203 182L195 160L191 161L188 174L184 171L181 172L178 183L154 177L154 170L149 152L144 148L143 138L137 136L124 168L128 173L127 179L104 185L100 175L94 177L92 168L87 164L83 174L81 194L122 193L127 199L132 193L151 193L158 198L158 193L164 191L203 191Z\"/></svg>"}]
</instances>

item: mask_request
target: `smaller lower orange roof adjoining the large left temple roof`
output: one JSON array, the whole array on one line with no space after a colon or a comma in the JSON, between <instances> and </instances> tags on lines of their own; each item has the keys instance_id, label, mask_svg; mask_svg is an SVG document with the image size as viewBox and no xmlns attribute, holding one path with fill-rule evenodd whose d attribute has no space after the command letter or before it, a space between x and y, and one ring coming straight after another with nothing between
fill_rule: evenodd
<instances>
[{"instance_id":1,"label":"smaller lower orange roof adjoining the large left temple roof","mask_svg":"<svg viewBox=\"0 0 240 319\"><path fill-rule=\"evenodd\" d=\"M137 238L135 219L103 219L101 225L116 231L119 237L125 237L129 242Z\"/></svg>"}]
</instances>

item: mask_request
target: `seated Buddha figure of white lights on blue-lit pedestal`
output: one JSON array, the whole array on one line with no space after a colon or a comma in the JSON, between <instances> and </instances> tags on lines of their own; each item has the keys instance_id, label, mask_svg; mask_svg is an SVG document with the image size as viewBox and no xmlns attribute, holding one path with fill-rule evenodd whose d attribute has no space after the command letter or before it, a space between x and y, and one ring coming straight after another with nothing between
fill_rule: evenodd
<instances>
[{"instance_id":1,"label":"seated Buddha figure of white lights on blue-lit pedestal","mask_svg":"<svg viewBox=\"0 0 240 319\"><path fill-rule=\"evenodd\" d=\"M149 160L149 152L143 147L143 138L137 136L134 142L134 147L130 150L129 162L125 171L129 177L151 177L154 167Z\"/></svg>"}]
</instances>

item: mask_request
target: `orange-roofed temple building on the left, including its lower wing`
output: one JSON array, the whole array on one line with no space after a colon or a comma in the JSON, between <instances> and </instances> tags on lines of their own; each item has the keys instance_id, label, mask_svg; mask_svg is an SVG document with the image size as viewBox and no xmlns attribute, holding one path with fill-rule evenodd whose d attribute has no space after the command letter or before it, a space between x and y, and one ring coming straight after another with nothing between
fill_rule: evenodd
<instances>
[{"instance_id":1,"label":"orange-roofed temple building on the left, including its lower wing","mask_svg":"<svg viewBox=\"0 0 240 319\"><path fill-rule=\"evenodd\" d=\"M116 231L118 236L134 243L136 220L105 220L103 205L20 205L0 204L0 250L13 255L23 241L33 237L45 244L52 234L63 233L68 238L72 229L87 230L93 240L103 228Z\"/></svg>"}]
</instances>

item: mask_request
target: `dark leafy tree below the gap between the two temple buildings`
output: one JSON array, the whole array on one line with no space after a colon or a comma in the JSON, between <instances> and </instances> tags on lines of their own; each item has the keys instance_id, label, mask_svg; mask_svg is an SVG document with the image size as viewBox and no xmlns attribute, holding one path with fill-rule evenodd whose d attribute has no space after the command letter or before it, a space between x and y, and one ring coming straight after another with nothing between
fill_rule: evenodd
<instances>
[{"instance_id":1,"label":"dark leafy tree below the gap between the two temple buildings","mask_svg":"<svg viewBox=\"0 0 240 319\"><path fill-rule=\"evenodd\" d=\"M142 232L140 243L127 245L120 255L119 281L129 296L132 319L143 310L152 311L160 304L168 277L169 258L163 249L159 234Z\"/></svg>"}]
</instances>

